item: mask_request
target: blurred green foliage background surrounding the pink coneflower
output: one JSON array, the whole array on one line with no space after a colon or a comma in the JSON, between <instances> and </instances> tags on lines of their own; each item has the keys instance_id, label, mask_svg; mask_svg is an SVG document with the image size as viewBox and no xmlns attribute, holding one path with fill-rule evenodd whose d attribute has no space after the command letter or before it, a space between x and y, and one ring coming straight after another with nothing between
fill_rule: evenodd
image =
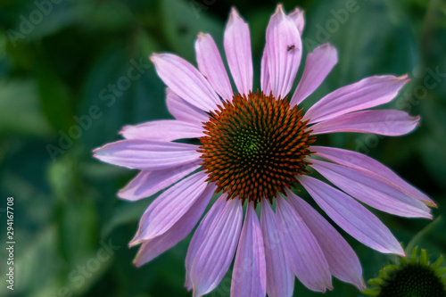
<instances>
[{"instance_id":1,"label":"blurred green foliage background surrounding the pink coneflower","mask_svg":"<svg viewBox=\"0 0 446 297\"><path fill-rule=\"evenodd\" d=\"M396 138L320 136L318 142L384 162L431 195L439 205L434 216L444 217L446 3L357 0L356 12L339 15L352 1L282 1L287 10L296 5L305 10L304 54L326 41L339 53L339 63L303 107L361 78L409 73L409 86L386 107L420 114L417 131ZM191 295L183 287L190 236L135 268L136 249L127 244L153 198L117 199L116 192L136 172L100 163L91 151L120 139L123 125L171 118L148 55L169 51L194 62L200 31L211 33L222 49L231 5L250 22L258 87L273 1L0 2L0 220L3 229L5 199L13 196L16 240L15 290L7 290L2 277L0 295ZM435 259L446 254L445 219L427 227L430 222L423 219L378 215L405 243L425 228L411 244L428 249ZM392 259L345 236L359 254L365 279ZM0 251L4 276L6 252ZM228 296L229 284L227 274L211 296ZM334 285L326 296L360 295L352 285L337 280ZM295 295L318 294L296 282Z\"/></svg>"}]
</instances>

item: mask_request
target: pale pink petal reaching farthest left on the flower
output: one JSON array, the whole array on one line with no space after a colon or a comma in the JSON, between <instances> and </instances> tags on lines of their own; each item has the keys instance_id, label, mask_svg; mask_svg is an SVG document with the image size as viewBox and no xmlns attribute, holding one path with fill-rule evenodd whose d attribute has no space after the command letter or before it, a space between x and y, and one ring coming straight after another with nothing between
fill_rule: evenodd
<instances>
[{"instance_id":1,"label":"pale pink petal reaching farthest left on the flower","mask_svg":"<svg viewBox=\"0 0 446 297\"><path fill-rule=\"evenodd\" d=\"M198 146L155 140L126 139L105 144L93 151L94 157L130 169L173 169L199 160Z\"/></svg>"}]
</instances>

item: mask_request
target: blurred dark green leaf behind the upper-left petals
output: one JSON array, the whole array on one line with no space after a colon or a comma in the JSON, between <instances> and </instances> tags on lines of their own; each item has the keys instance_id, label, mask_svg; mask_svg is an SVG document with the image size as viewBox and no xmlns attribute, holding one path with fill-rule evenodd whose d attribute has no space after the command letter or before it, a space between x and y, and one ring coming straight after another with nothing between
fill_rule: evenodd
<instances>
[{"instance_id":1,"label":"blurred dark green leaf behind the upper-left petals","mask_svg":"<svg viewBox=\"0 0 446 297\"><path fill-rule=\"evenodd\" d=\"M139 51L115 48L103 53L87 76L82 101L78 127L87 149L118 140L124 125L169 117L164 86Z\"/></svg>"}]
</instances>

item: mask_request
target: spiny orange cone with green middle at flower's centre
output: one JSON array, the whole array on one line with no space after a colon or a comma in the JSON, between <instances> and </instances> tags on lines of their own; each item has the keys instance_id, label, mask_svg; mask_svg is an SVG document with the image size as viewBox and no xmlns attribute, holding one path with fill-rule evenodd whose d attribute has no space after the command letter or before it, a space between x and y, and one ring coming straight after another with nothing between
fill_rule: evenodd
<instances>
[{"instance_id":1,"label":"spiny orange cone with green middle at flower's centre","mask_svg":"<svg viewBox=\"0 0 446 297\"><path fill-rule=\"evenodd\" d=\"M211 112L200 138L202 166L228 198L260 202L285 194L306 172L309 144L301 110L272 95L235 95Z\"/></svg>"}]
</instances>

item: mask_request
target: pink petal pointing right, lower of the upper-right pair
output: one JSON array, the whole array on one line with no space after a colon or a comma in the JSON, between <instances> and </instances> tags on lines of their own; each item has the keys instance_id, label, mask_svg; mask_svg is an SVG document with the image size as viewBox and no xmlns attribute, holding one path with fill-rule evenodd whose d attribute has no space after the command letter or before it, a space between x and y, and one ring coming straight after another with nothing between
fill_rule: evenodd
<instances>
[{"instance_id":1,"label":"pink petal pointing right, lower of the upper-right pair","mask_svg":"<svg viewBox=\"0 0 446 297\"><path fill-rule=\"evenodd\" d=\"M419 116L411 117L404 111L357 111L319 122L311 126L311 134L356 132L401 136L416 128L418 121Z\"/></svg>"}]
</instances>

